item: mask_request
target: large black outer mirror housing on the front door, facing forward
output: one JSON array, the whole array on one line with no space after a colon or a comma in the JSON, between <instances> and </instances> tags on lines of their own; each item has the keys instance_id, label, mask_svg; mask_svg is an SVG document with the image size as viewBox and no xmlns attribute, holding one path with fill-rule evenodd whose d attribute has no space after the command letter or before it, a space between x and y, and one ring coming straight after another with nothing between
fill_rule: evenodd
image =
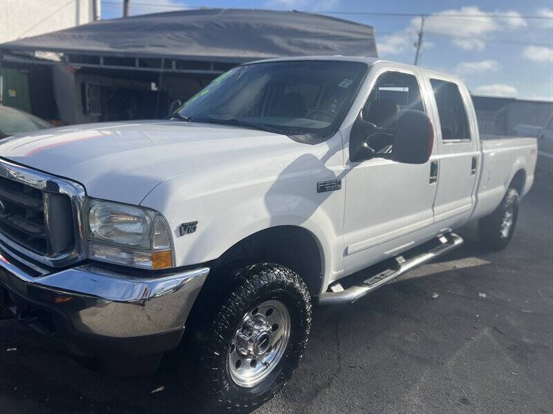
<instances>
[{"instance_id":1,"label":"large black outer mirror housing on the front door, facing forward","mask_svg":"<svg viewBox=\"0 0 553 414\"><path fill-rule=\"evenodd\" d=\"M434 130L427 114L402 110L397 115L392 159L404 164L424 164L432 154Z\"/></svg>"}]
</instances>

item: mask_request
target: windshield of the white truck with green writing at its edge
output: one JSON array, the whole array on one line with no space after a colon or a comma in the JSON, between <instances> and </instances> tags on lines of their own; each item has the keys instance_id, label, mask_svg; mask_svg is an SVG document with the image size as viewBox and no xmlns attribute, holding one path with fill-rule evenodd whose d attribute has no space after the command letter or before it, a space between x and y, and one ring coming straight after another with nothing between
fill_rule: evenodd
<instances>
[{"instance_id":1,"label":"windshield of the white truck with green writing at its edge","mask_svg":"<svg viewBox=\"0 0 553 414\"><path fill-rule=\"evenodd\" d=\"M326 138L346 116L366 63L278 61L238 66L191 97L176 115Z\"/></svg>"}]
</instances>

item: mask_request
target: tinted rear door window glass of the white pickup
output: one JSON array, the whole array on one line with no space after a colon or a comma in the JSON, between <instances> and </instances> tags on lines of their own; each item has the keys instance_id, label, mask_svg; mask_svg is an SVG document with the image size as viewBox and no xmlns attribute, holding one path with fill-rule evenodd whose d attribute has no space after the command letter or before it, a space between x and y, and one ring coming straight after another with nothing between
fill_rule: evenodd
<instances>
[{"instance_id":1,"label":"tinted rear door window glass of the white pickup","mask_svg":"<svg viewBox=\"0 0 553 414\"><path fill-rule=\"evenodd\" d=\"M470 140L467 111L458 86L438 79L430 79L430 83L438 106L442 140Z\"/></svg>"}]
</instances>

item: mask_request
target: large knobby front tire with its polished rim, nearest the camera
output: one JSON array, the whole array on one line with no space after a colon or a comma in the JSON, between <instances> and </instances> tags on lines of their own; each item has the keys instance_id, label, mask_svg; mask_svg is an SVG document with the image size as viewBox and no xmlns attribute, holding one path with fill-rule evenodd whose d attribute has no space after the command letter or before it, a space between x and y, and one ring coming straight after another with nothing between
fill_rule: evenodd
<instances>
[{"instance_id":1,"label":"large knobby front tire with its polished rim, nearest the camera","mask_svg":"<svg viewBox=\"0 0 553 414\"><path fill-rule=\"evenodd\" d=\"M187 333L180 371L207 411L249 413L297 370L310 332L311 300L303 280L277 264L246 266L229 276L232 288L206 306L208 317Z\"/></svg>"}]
</instances>

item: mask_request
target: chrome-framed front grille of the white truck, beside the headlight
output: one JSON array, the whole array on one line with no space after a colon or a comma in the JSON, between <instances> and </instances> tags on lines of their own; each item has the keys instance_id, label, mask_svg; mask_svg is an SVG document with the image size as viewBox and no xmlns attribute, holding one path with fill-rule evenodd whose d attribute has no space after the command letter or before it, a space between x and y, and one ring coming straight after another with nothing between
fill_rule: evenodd
<instances>
[{"instance_id":1,"label":"chrome-framed front grille of the white truck, beside the headlight","mask_svg":"<svg viewBox=\"0 0 553 414\"><path fill-rule=\"evenodd\" d=\"M49 266L81 259L83 197L79 184L0 159L1 242Z\"/></svg>"}]
</instances>

